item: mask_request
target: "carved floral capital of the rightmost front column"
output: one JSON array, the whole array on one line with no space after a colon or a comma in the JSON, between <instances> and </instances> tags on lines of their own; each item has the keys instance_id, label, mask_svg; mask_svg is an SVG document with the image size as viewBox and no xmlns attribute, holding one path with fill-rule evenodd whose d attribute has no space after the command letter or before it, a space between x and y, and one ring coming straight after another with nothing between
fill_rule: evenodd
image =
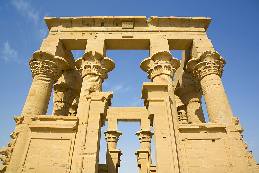
<instances>
[{"instance_id":1,"label":"carved floral capital of the rightmost front column","mask_svg":"<svg viewBox=\"0 0 259 173\"><path fill-rule=\"evenodd\" d=\"M205 51L198 58L188 61L186 70L192 71L192 78L200 83L200 80L207 75L217 74L222 76L223 67L226 61L217 51Z\"/></svg>"}]
</instances>

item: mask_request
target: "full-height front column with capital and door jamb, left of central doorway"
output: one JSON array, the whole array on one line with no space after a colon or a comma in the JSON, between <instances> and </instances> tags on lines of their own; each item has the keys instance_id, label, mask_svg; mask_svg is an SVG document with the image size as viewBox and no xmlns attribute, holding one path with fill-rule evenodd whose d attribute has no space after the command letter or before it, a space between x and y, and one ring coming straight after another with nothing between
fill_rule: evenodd
<instances>
[{"instance_id":1,"label":"full-height front column with capital and door jamb, left of central doorway","mask_svg":"<svg viewBox=\"0 0 259 173\"><path fill-rule=\"evenodd\" d=\"M80 145L78 172L98 171L101 122L106 117L105 110L110 105L112 93L101 92L102 83L108 77L107 72L115 67L114 62L97 51L86 51L75 62L81 73L82 88L77 107L78 137ZM97 93L94 96L91 93ZM108 103L109 102L109 103ZM88 147L86 147L88 146ZM85 158L85 159L84 159Z\"/></svg>"}]
</instances>

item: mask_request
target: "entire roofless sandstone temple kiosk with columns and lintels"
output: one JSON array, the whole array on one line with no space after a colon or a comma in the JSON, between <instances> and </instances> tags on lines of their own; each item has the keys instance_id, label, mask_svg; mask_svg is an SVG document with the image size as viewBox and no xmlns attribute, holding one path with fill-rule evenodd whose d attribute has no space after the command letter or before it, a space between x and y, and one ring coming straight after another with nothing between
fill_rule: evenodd
<instances>
[{"instance_id":1,"label":"entire roofless sandstone temple kiosk with columns and lintels","mask_svg":"<svg viewBox=\"0 0 259 173\"><path fill-rule=\"evenodd\" d=\"M21 116L14 117L12 139L0 151L0 172L119 172L118 121L141 124L135 129L141 173L259 172L221 82L228 57L221 57L206 35L211 18L46 17L45 22L49 34L29 60L33 82ZM144 107L110 107L113 92L102 91L115 67L106 57L109 49L149 50L140 64L150 79L142 86ZM71 50L85 53L75 61ZM169 50L183 50L182 60ZM52 91L54 107L46 115ZM98 164L101 133L105 164Z\"/></svg>"}]
</instances>

